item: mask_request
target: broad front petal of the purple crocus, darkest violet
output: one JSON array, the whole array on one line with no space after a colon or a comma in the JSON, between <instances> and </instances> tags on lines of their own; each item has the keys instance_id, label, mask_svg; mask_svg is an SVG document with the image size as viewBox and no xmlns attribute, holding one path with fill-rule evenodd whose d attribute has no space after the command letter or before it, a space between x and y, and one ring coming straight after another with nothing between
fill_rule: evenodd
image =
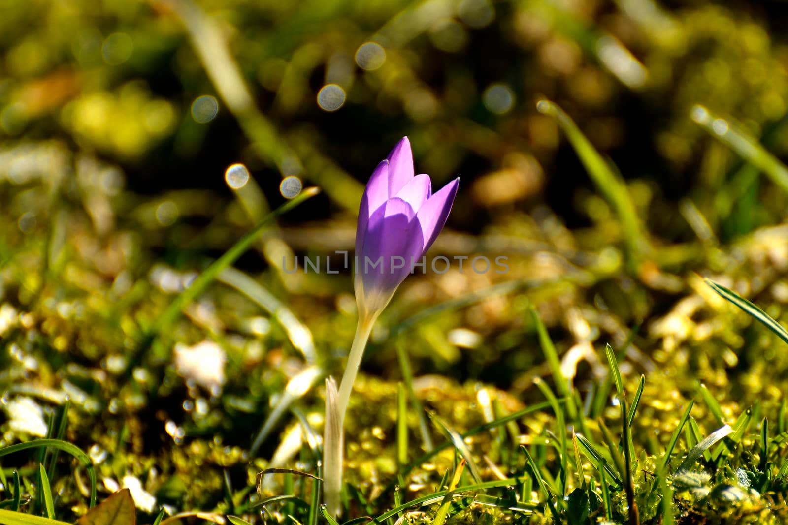
<instances>
[{"instance_id":1,"label":"broad front petal of the purple crocus, darkest violet","mask_svg":"<svg viewBox=\"0 0 788 525\"><path fill-rule=\"evenodd\" d=\"M370 309L385 307L396 287L410 274L411 257L422 257L422 228L415 215L406 201L391 198L370 217L356 266L356 272L362 274L363 293L374 303ZM378 305L381 301L383 304Z\"/></svg>"}]
</instances>

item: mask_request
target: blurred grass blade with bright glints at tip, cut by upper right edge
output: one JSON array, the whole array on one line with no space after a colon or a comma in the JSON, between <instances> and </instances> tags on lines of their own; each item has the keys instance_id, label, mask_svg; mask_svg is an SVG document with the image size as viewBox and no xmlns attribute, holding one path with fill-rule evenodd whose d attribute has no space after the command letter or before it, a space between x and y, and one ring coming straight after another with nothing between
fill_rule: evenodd
<instances>
[{"instance_id":1,"label":"blurred grass blade with bright glints at tip, cut by upper right edge","mask_svg":"<svg viewBox=\"0 0 788 525\"><path fill-rule=\"evenodd\" d=\"M703 105L695 105L690 116L709 134L729 146L745 161L760 168L775 184L788 191L788 168L761 146L760 142L727 120L713 115Z\"/></svg>"}]
</instances>

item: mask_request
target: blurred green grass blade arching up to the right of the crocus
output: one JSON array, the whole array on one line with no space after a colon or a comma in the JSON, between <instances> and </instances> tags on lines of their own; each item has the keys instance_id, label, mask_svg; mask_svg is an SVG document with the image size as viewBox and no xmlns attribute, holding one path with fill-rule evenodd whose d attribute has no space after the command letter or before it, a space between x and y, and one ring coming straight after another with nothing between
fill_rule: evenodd
<instances>
[{"instance_id":1,"label":"blurred green grass blade arching up to the right of the crocus","mask_svg":"<svg viewBox=\"0 0 788 525\"><path fill-rule=\"evenodd\" d=\"M585 138L577 124L571 119L563 109L559 108L554 102L540 100L537 102L539 113L552 116L558 121L559 126L567 134L569 142L575 152L580 157L585 170L593 183L600 190L600 193L608 200L615 214L619 217L623 227L623 236L626 242L630 258L637 259L645 252L650 250L649 241L643 233L640 219L637 217L634 203L630 197L626 183L616 175L597 150L591 145L589 139Z\"/></svg>"}]
</instances>

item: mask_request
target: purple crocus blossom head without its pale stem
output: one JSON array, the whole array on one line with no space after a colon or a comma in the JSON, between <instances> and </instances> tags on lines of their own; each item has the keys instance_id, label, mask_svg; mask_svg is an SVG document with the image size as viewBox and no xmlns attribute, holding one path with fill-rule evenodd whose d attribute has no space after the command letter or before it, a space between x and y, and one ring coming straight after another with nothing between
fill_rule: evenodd
<instances>
[{"instance_id":1,"label":"purple crocus blossom head without its pale stem","mask_svg":"<svg viewBox=\"0 0 788 525\"><path fill-rule=\"evenodd\" d=\"M359 315L376 316L413 264L420 263L446 224L459 178L436 194L429 175L414 176L411 142L404 137L370 177L355 233L355 296Z\"/></svg>"}]
</instances>

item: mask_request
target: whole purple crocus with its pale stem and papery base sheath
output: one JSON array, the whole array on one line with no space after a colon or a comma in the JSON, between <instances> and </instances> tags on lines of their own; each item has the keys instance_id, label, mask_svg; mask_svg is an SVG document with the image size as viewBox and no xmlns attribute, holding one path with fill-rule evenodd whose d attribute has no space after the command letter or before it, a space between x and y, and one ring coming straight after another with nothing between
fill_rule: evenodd
<instances>
[{"instance_id":1,"label":"whole purple crocus with its pale stem and papery base sheath","mask_svg":"<svg viewBox=\"0 0 788 525\"><path fill-rule=\"evenodd\" d=\"M339 390L333 380L326 383L323 497L333 516L341 512L344 416L366 342L378 314L440 234L457 194L459 179L433 195L429 176L413 173L411 142L405 137L388 153L388 159L377 165L361 199L355 232L359 326Z\"/></svg>"}]
</instances>

